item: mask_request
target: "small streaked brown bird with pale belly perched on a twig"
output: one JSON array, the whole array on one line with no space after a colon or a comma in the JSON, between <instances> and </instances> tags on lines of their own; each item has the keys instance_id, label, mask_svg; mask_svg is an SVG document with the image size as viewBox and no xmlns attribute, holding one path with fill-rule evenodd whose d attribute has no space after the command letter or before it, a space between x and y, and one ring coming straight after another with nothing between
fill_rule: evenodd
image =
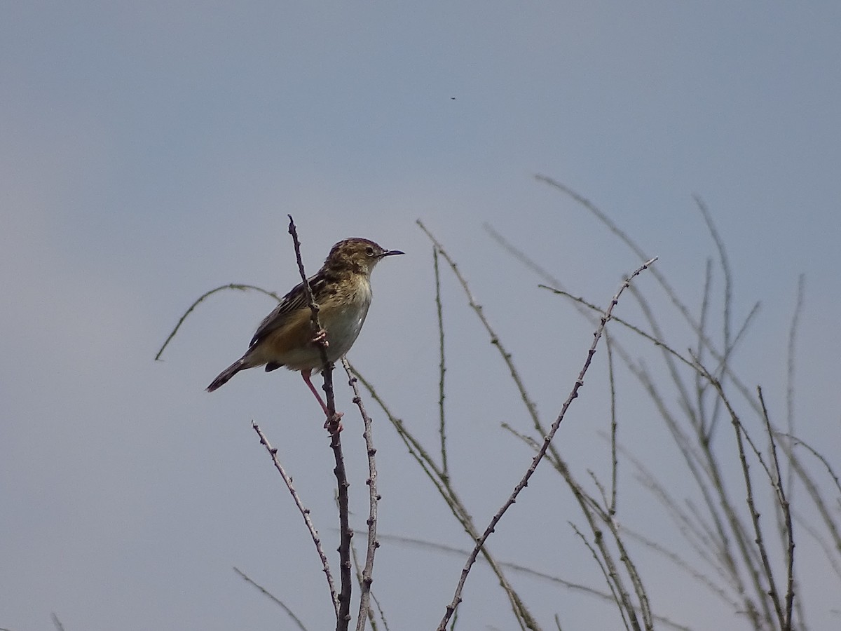
<instances>
[{"instance_id":1,"label":"small streaked brown bird with pale belly perched on a twig","mask_svg":"<svg viewBox=\"0 0 841 631\"><path fill-rule=\"evenodd\" d=\"M326 336L327 361L343 357L356 342L371 306L371 272L384 257L403 254L384 250L368 239L345 239L332 247L324 266L309 278L313 299L319 305L323 331L314 336L311 311L303 283L283 296L251 338L246 354L230 364L207 388L213 392L241 370L262 366L266 372L285 366L300 370L304 382L327 414L327 406L310 380L324 363L320 339Z\"/></svg>"}]
</instances>

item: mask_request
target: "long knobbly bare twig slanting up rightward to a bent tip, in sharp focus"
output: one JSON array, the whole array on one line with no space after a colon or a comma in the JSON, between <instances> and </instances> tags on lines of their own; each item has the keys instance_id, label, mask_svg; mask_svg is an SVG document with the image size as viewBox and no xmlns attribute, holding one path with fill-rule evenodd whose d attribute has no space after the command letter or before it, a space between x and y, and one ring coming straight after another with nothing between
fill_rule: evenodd
<instances>
[{"instance_id":1,"label":"long knobbly bare twig slanting up rightward to a bent tip, in sharp focus","mask_svg":"<svg viewBox=\"0 0 841 631\"><path fill-rule=\"evenodd\" d=\"M607 321L611 319L611 313L613 312L613 308L619 302L619 297L621 293L627 287L630 286L632 278L635 278L637 274L642 273L643 270L647 269L648 266L653 264L653 262L656 260L657 257L654 257L648 260L647 262L643 263L641 267L637 268L637 270L634 273L632 273L628 278L625 279L625 282L621 284L619 291L617 291L616 295L613 296L611 304L607 307L604 314L601 316L600 325L593 334L593 343L590 345L590 350L587 353L587 358L584 360L584 366L579 372L578 379L575 380L575 384L573 386L572 391L569 393L567 400L563 402L563 406L561 407L561 411L558 414L558 418L556 418L555 422L553 422L552 428L549 430L549 433L544 438L540 450L537 452L534 458L532 458L532 464L530 464L529 468L526 469L526 474L523 475L520 482L518 482L517 485L514 487L514 491L511 493L511 495L508 497L505 503L500 507L500 510L490 520L488 528L485 528L484 533L482 533L481 537L479 537L479 539L477 540L473 551L468 557L467 563L464 565L461 578L458 581L458 586L456 587L455 594L452 597L452 602L450 602L450 604L447 605L447 611L444 613L441 622L438 623L438 631L446 631L447 623L452 617L452 613L455 612L456 607L458 607L458 604L462 602L461 595L464 588L464 584L467 581L467 577L470 573L470 569L473 566L473 563L476 561L476 557L479 555L479 551L484 547L484 542L487 541L487 539L490 536L490 533L494 532L496 524L500 522L500 519L505 514L505 512L516 501L516 498L518 495L520 495L521 490L526 488L526 485L528 485L529 479L531 479L532 475L537 470L537 464L540 464L540 461L543 459L543 456L546 454L547 449L549 448L549 443L552 442L552 439L555 436L555 432L558 431L558 427L560 427L561 422L563 421L563 417L566 416L566 412L569 409L569 406L572 404L573 400L578 396L578 391L581 388L581 386L584 385L584 374L586 374L587 370L590 368L590 363L592 362L593 355L595 355L595 348L598 345L601 335L605 330Z\"/></svg>"}]
</instances>

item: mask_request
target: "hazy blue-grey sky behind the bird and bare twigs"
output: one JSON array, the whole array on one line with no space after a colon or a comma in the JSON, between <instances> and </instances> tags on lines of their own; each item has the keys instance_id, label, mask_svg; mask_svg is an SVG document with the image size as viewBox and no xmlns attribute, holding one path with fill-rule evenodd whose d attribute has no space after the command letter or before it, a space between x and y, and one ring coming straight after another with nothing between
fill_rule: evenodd
<instances>
[{"instance_id":1,"label":"hazy blue-grey sky behind the bird and bare twigs","mask_svg":"<svg viewBox=\"0 0 841 631\"><path fill-rule=\"evenodd\" d=\"M697 306L714 254L699 194L729 248L736 320L763 303L737 361L778 419L806 274L798 427L828 456L841 453L839 27L835 2L2 3L0 627L50 628L56 612L68 631L278 628L278 610L232 565L309 628L330 625L315 553L250 428L257 420L280 448L329 537L331 454L317 407L294 374L251 371L203 390L271 302L217 296L164 363L151 361L205 290L294 283L287 213L311 272L346 236L406 252L374 274L351 358L431 440L437 338L431 251L416 218L460 262L549 419L591 327L538 290L483 223L606 304L638 261L533 178L546 174L659 255ZM499 424L525 421L445 278L453 469L484 523L530 458ZM659 295L652 278L638 284ZM632 300L623 307L637 313ZM660 308L672 342L693 343ZM606 427L604 353L596 358L600 376L558 435L581 472L607 462L596 437ZM641 395L626 387L629 448L673 475L662 426L634 414ZM388 423L375 420L381 531L465 547ZM362 475L359 433L345 441ZM491 548L600 586L567 526L579 519L569 494L540 473ZM627 480L632 497L647 497ZM671 536L626 508L620 518ZM391 628L433 628L462 564L383 544L374 589ZM837 597L837 583L833 591L828 568L815 567L803 577L815 599L809 622L829 628L838 614L816 602L822 589ZM653 568L655 608L695 628L736 624ZM564 628L619 627L610 607L521 581L547 628L555 612ZM465 596L463 628L511 628L481 568Z\"/></svg>"}]
</instances>

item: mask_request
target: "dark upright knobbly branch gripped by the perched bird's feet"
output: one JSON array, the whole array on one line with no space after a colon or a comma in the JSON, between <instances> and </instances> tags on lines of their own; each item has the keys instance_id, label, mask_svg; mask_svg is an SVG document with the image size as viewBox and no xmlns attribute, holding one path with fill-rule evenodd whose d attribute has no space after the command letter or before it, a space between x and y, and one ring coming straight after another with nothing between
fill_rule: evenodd
<instances>
[{"instance_id":1,"label":"dark upright knobbly branch gripped by the perched bird's feet","mask_svg":"<svg viewBox=\"0 0 841 631\"><path fill-rule=\"evenodd\" d=\"M315 334L315 339L318 341L321 361L323 363L322 372L324 374L324 392L327 399L328 415L326 427L327 431L330 432L330 448L333 450L333 457L336 460L336 468L333 469L333 473L336 475L336 489L338 491L339 503L339 575L341 577L341 591L339 592L339 610L336 615L336 631L346 631L347 625L351 621L352 590L351 538L353 531L348 521L350 508L347 496L347 488L350 484L347 482L345 458L341 452L341 435L339 432L341 425L339 424L339 416L336 415L336 399L333 394L333 366L327 360L327 338L320 335L322 328L318 317L319 305L315 303L312 289L309 287L309 280L304 272L298 231L295 230L295 222L292 219L292 215L287 216L289 218L289 234L292 235L292 241L295 247L295 259L298 262L298 271L304 283L304 290L309 301L309 309L312 311L313 333Z\"/></svg>"}]
</instances>

